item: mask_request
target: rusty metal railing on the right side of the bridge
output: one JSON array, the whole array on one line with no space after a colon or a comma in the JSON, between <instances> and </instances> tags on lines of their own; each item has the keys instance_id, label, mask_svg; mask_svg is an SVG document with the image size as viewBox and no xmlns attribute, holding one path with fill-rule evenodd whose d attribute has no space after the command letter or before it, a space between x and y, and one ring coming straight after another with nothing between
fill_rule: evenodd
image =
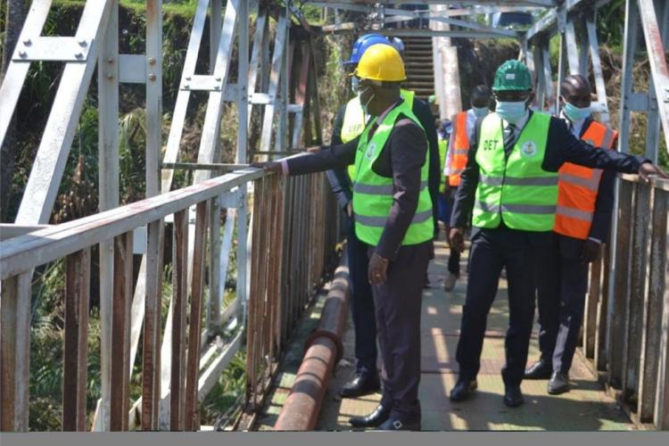
<instances>
[{"instance_id":1,"label":"rusty metal railing on the right side of the bridge","mask_svg":"<svg viewBox=\"0 0 669 446\"><path fill-rule=\"evenodd\" d=\"M615 258L591 268L582 350L637 421L669 429L669 181L623 175ZM602 268L602 264L605 265ZM606 268L611 265L611 268ZM609 277L615 284L613 293Z\"/></svg>"}]
</instances>

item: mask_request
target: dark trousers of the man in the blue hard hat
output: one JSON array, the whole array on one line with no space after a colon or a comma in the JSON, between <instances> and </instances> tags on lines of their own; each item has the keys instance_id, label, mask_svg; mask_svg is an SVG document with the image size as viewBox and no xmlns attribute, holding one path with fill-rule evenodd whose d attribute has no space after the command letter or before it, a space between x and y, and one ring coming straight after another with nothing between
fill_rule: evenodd
<instances>
[{"instance_id":1,"label":"dark trousers of the man in the blue hard hat","mask_svg":"<svg viewBox=\"0 0 669 446\"><path fill-rule=\"evenodd\" d=\"M358 374L376 376L376 313L372 286L368 280L368 244L355 235L355 223L348 216L347 253L349 255L349 279L351 280L351 316L355 333L355 359Z\"/></svg>"}]
</instances>

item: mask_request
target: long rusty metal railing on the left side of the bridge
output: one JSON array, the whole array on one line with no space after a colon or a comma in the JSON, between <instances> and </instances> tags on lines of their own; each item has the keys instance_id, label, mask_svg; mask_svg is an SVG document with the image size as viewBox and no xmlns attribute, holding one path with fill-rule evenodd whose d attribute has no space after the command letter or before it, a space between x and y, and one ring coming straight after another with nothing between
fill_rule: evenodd
<instances>
[{"instance_id":1,"label":"long rusty metal railing on the left side of the bridge","mask_svg":"<svg viewBox=\"0 0 669 446\"><path fill-rule=\"evenodd\" d=\"M246 190L252 212L247 215ZM237 239L237 297L211 312L226 268L211 268L216 252L210 230L213 206L235 206L238 227L250 217L248 243ZM189 235L189 209L194 235ZM31 276L35 268L64 259L66 270L62 429L86 425L88 304L91 248L112 240L113 293L111 339L111 430L197 430L198 401L216 384L235 352L246 343L246 415L253 417L276 368L277 357L301 311L334 260L338 221L335 198L326 193L322 174L302 178L267 177L258 169L238 170L194 186L157 195L93 216L38 228L0 242L2 279L2 430L28 425L29 342L21 325L30 324ZM171 221L171 231L166 231ZM147 225L142 397L130 406L132 377L130 326L133 311L133 236ZM171 233L171 295L161 316L163 250ZM244 234L245 231L238 231ZM215 234L215 233L214 233ZM189 255L188 239L193 236ZM167 240L165 240L167 238ZM214 243L212 243L212 241ZM166 243L167 242L167 243ZM234 252L222 252L227 256ZM250 252L250 257L244 255ZM220 254L220 252L219 252ZM190 265L189 265L190 263ZM244 290L249 293L245 294ZM208 318L203 323L204 309ZM230 328L220 351L208 346L209 321ZM161 326L165 326L161 333ZM162 345L161 345L162 344ZM106 352L102 351L102 355ZM206 366L206 368L205 368ZM129 372L129 373L128 373Z\"/></svg>"}]
</instances>

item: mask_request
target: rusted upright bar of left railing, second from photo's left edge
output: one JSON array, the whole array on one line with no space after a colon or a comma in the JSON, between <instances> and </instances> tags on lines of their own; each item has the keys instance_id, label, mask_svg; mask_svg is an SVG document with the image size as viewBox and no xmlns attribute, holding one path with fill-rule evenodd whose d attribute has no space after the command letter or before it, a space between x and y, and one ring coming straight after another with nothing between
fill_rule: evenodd
<instances>
[{"instance_id":1,"label":"rusted upright bar of left railing, second from photo's left edge","mask_svg":"<svg viewBox=\"0 0 669 446\"><path fill-rule=\"evenodd\" d=\"M82 432L86 430L90 249L70 254L66 269L62 430Z\"/></svg>"}]
</instances>

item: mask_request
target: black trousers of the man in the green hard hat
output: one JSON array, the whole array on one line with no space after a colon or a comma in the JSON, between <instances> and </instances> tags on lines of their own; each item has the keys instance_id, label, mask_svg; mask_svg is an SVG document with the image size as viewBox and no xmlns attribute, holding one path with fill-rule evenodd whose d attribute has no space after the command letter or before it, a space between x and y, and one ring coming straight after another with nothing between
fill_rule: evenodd
<instances>
[{"instance_id":1,"label":"black trousers of the man in the green hard hat","mask_svg":"<svg viewBox=\"0 0 669 446\"><path fill-rule=\"evenodd\" d=\"M500 272L507 268L508 330L506 365L502 378L507 385L520 384L527 364L527 349L534 318L535 264L537 248L524 231L507 227L475 229L462 312L456 359L461 378L475 379L481 367L481 351L488 313L497 294Z\"/></svg>"}]
</instances>

